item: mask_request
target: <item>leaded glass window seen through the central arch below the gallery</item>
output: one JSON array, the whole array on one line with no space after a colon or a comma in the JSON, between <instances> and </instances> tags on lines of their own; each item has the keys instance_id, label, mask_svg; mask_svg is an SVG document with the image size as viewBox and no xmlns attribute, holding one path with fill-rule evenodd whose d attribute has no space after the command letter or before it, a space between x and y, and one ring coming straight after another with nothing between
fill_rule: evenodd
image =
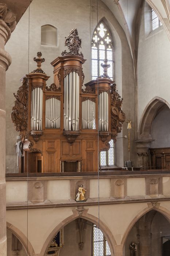
<instances>
[{"instance_id":1,"label":"leaded glass window seen through the central arch below the gallery","mask_svg":"<svg viewBox=\"0 0 170 256\"><path fill-rule=\"evenodd\" d=\"M93 256L110 256L111 251L102 231L93 225Z\"/></svg>"}]
</instances>

